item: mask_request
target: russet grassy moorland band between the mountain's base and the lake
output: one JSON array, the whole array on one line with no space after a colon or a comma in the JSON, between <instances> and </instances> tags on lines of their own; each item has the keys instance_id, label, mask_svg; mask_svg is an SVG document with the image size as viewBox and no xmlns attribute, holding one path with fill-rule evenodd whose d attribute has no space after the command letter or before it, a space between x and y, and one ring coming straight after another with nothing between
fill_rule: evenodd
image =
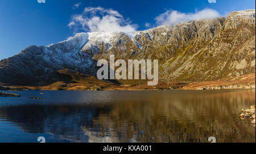
<instances>
[{"instance_id":1,"label":"russet grassy moorland band between the mountain's base and the lake","mask_svg":"<svg viewBox=\"0 0 256 154\"><path fill-rule=\"evenodd\" d=\"M222 79L210 82L158 82L155 86L148 86L147 82L137 84L116 84L98 80L95 76L85 76L48 85L10 85L0 83L0 91L160 91L160 90L219 90L219 89L255 89L255 73L239 76L237 78ZM72 80L71 80L72 79Z\"/></svg>"}]
</instances>

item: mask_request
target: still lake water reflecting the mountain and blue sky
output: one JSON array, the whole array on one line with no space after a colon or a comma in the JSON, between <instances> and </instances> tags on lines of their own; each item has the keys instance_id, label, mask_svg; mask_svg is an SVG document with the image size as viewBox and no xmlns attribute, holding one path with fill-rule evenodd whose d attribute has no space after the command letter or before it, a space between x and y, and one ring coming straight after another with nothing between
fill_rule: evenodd
<instances>
[{"instance_id":1,"label":"still lake water reflecting the mountain and blue sky","mask_svg":"<svg viewBox=\"0 0 256 154\"><path fill-rule=\"evenodd\" d=\"M41 92L0 97L0 142L255 143L255 90Z\"/></svg>"}]
</instances>

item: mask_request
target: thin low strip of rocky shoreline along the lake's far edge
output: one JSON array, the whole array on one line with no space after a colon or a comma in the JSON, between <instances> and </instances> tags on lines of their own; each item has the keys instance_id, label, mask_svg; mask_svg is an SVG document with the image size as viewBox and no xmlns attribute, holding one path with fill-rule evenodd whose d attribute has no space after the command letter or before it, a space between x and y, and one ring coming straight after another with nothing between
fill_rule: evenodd
<instances>
[{"instance_id":1,"label":"thin low strip of rocky shoreline along the lake's far edge","mask_svg":"<svg viewBox=\"0 0 256 154\"><path fill-rule=\"evenodd\" d=\"M63 82L64 83L64 82ZM87 85L87 84L61 84L51 85L43 87L30 87L22 85L14 85L10 87L1 87L2 91L161 91L161 90L195 90L195 91L207 91L207 90L222 90L222 89L255 89L255 85L230 85L230 86L216 86L216 87L192 87L189 83L160 83L159 85L148 87L147 85ZM59 82L58 82L59 84ZM164 85L165 84L165 85ZM169 85L168 85L169 84ZM198 85L197 85L198 86ZM198 86L199 87L199 86Z\"/></svg>"}]
</instances>

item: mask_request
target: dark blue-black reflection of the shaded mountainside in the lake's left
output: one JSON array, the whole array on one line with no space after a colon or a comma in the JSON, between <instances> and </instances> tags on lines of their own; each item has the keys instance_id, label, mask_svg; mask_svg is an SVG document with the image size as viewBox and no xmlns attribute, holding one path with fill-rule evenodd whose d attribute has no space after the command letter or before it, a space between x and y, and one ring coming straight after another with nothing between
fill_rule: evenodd
<instances>
[{"instance_id":1,"label":"dark blue-black reflection of the shaded mountainside in the lake's left","mask_svg":"<svg viewBox=\"0 0 256 154\"><path fill-rule=\"evenodd\" d=\"M0 118L14 122L28 133L49 133L64 139L84 141L80 126L93 127L100 109L90 106L21 105L0 108Z\"/></svg>"}]
</instances>

